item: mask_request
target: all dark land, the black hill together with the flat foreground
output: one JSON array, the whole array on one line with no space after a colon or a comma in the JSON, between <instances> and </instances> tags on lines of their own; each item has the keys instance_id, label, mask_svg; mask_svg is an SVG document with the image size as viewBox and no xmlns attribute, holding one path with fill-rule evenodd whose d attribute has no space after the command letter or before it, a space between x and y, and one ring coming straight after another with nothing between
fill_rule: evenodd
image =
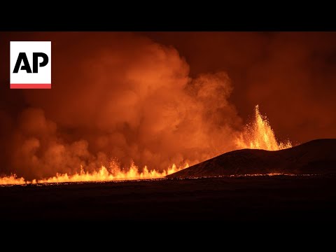
<instances>
[{"instance_id":1,"label":"all dark land, the black hill together with the flat foreground","mask_svg":"<svg viewBox=\"0 0 336 252\"><path fill-rule=\"evenodd\" d=\"M336 221L336 139L225 153L169 177L0 186L2 220ZM300 174L318 174L303 176Z\"/></svg>"}]
</instances>

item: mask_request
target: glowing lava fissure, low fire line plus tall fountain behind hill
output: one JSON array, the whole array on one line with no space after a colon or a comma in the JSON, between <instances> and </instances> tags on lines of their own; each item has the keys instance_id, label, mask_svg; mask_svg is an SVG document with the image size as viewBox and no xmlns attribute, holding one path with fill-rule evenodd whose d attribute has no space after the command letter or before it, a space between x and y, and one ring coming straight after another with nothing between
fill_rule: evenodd
<instances>
[{"instance_id":1,"label":"glowing lava fissure, low fire line plus tall fountain behind hill","mask_svg":"<svg viewBox=\"0 0 336 252\"><path fill-rule=\"evenodd\" d=\"M263 149L267 151L278 151L284 148L292 147L290 141L279 142L276 140L274 131L269 125L266 116L262 116L259 111L259 106L255 106L255 117L253 122L246 125L245 129L237 137L235 143L236 150L241 148ZM232 150L235 151L235 150ZM80 167L80 172L75 174L55 174L46 179L34 179L25 181L24 178L18 178L16 174L3 176L0 178L0 185L24 185L35 183L64 183L64 182L85 182L85 181L113 181L113 180L135 180L135 179L159 179L174 172L179 172L181 169L189 167L186 162L183 165L171 165L163 171L155 169L149 170L148 167L139 169L137 165L130 166L129 169L122 169L117 162L111 162L110 167L102 166L94 172L85 172L83 167Z\"/></svg>"}]
</instances>

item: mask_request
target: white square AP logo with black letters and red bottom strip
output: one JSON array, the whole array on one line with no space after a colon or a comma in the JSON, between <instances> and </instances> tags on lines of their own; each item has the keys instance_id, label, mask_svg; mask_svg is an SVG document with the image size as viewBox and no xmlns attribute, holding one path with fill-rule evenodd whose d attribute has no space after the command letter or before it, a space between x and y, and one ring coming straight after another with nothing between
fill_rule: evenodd
<instances>
[{"instance_id":1,"label":"white square AP logo with black letters and red bottom strip","mask_svg":"<svg viewBox=\"0 0 336 252\"><path fill-rule=\"evenodd\" d=\"M10 88L51 88L50 41L10 41Z\"/></svg>"}]
</instances>

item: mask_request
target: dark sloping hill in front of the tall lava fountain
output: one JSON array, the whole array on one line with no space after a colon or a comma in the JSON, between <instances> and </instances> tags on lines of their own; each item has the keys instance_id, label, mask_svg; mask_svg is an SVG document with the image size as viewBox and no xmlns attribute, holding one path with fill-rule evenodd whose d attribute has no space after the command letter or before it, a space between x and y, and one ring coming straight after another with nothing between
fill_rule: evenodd
<instances>
[{"instance_id":1,"label":"dark sloping hill in front of the tall lava fountain","mask_svg":"<svg viewBox=\"0 0 336 252\"><path fill-rule=\"evenodd\" d=\"M167 177L274 173L336 174L336 139L316 139L281 151L231 151Z\"/></svg>"}]
</instances>

